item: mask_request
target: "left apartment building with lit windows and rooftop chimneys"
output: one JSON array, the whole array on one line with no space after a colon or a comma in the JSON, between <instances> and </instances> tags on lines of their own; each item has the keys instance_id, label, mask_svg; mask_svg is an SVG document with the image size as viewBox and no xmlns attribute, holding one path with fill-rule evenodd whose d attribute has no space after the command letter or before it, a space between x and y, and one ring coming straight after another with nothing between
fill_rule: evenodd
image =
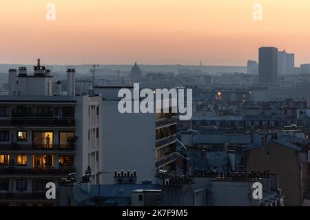
<instances>
[{"instance_id":1,"label":"left apartment building with lit windows and rooftop chimneys","mask_svg":"<svg viewBox=\"0 0 310 220\"><path fill-rule=\"evenodd\" d=\"M53 96L52 75L39 60L33 74L10 69L9 95L0 96L1 205L54 206L47 182L58 186L69 173L80 181L88 166L92 173L102 166L102 97L75 96L74 69L67 76L68 96Z\"/></svg>"}]
</instances>

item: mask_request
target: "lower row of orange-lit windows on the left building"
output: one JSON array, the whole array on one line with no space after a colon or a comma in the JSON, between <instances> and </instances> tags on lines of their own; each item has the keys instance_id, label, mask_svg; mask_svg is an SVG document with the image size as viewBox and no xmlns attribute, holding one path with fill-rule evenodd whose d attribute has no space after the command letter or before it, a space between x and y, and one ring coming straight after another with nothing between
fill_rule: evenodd
<instances>
[{"instance_id":1,"label":"lower row of orange-lit windows on the left building","mask_svg":"<svg viewBox=\"0 0 310 220\"><path fill-rule=\"evenodd\" d=\"M15 164L16 162L16 164ZM59 166L74 166L73 155L59 155ZM0 155L0 166L27 166L28 155L20 154L12 157L10 154ZM54 155L32 155L32 166L34 168L51 168L54 166Z\"/></svg>"}]
</instances>

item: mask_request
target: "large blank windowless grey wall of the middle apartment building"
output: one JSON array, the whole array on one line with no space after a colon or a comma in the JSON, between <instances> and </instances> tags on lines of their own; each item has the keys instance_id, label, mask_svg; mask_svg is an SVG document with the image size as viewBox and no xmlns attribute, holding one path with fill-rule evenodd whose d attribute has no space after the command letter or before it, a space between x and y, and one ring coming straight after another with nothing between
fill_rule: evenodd
<instances>
[{"instance_id":1,"label":"large blank windowless grey wall of the middle apartment building","mask_svg":"<svg viewBox=\"0 0 310 220\"><path fill-rule=\"evenodd\" d=\"M155 113L122 114L117 107L117 100L103 100L103 184L114 182L114 170L136 170L138 182L155 182Z\"/></svg>"}]
</instances>

